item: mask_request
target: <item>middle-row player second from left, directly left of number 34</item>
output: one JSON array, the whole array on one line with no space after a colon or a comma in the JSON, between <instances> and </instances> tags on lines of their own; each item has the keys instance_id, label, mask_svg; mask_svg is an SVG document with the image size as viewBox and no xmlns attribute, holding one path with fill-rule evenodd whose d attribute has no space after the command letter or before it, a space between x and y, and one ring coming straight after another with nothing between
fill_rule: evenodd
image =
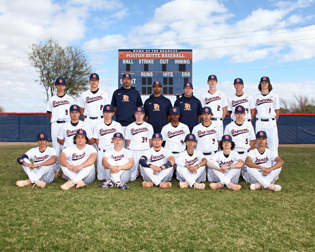
<instances>
[{"instance_id":1,"label":"middle-row player second from left, directly left of number 34","mask_svg":"<svg viewBox=\"0 0 315 252\"><path fill-rule=\"evenodd\" d=\"M98 123L94 129L94 139L97 144L97 179L108 180L110 178L107 169L102 165L103 156L106 150L114 147L112 137L117 132L123 132L120 123L112 119L113 106L107 104L103 108L104 121ZM108 171L108 170L107 170Z\"/></svg>"}]
</instances>

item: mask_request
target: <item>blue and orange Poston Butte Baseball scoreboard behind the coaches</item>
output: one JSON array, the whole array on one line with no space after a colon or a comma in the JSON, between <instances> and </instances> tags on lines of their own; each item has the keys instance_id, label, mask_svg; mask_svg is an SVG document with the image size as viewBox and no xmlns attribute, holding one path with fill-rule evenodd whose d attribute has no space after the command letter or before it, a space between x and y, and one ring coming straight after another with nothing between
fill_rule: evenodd
<instances>
[{"instance_id":1,"label":"blue and orange Poston Butte Baseball scoreboard behind the coaches","mask_svg":"<svg viewBox=\"0 0 315 252\"><path fill-rule=\"evenodd\" d=\"M182 94L183 84L192 82L192 49L119 49L118 88L121 77L129 73L132 86L142 95L151 95L152 83L162 83L163 95Z\"/></svg>"}]
</instances>

